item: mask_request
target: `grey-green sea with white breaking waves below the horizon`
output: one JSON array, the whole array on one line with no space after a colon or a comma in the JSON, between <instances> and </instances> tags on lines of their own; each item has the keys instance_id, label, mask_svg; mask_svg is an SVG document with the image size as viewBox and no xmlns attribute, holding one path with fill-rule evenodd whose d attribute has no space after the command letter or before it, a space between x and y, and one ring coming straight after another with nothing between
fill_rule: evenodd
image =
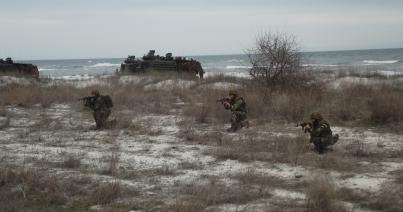
<instances>
[{"instance_id":1,"label":"grey-green sea with white breaking waves below the horizon","mask_svg":"<svg viewBox=\"0 0 403 212\"><path fill-rule=\"evenodd\" d=\"M189 56L201 62L206 74L247 76L251 65L246 54ZM302 65L313 70L403 73L403 48L302 52ZM114 74L125 58L18 61L38 66L41 77L83 79Z\"/></svg>"}]
</instances>

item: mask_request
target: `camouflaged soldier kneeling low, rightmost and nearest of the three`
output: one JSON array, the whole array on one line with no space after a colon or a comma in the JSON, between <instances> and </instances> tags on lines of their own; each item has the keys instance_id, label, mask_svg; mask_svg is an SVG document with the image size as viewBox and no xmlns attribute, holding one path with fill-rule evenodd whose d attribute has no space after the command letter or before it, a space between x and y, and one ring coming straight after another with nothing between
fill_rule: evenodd
<instances>
[{"instance_id":1,"label":"camouflaged soldier kneeling low, rightmost and nearest of the three","mask_svg":"<svg viewBox=\"0 0 403 212\"><path fill-rule=\"evenodd\" d=\"M310 142L315 145L315 150L322 154L326 150L326 147L338 141L339 135L336 134L333 136L329 123L323 119L320 113L312 113L311 121L305 128L311 135Z\"/></svg>"}]
</instances>

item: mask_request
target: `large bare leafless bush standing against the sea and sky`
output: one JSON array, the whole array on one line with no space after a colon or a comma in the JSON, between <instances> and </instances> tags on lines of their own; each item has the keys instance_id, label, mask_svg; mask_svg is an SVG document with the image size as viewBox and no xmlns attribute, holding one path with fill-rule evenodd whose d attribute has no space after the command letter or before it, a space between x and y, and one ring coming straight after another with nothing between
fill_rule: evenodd
<instances>
[{"instance_id":1,"label":"large bare leafless bush standing against the sea and sky","mask_svg":"<svg viewBox=\"0 0 403 212\"><path fill-rule=\"evenodd\" d=\"M308 81L294 36L265 33L256 39L256 46L247 55L252 65L249 74L266 88L299 88Z\"/></svg>"}]
</instances>

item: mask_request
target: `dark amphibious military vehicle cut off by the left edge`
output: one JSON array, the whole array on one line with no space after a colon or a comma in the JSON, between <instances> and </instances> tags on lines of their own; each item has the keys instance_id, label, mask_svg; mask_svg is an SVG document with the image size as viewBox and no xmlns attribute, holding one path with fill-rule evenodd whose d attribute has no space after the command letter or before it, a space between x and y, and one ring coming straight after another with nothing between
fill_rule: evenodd
<instances>
[{"instance_id":1,"label":"dark amphibious military vehicle cut off by the left edge","mask_svg":"<svg viewBox=\"0 0 403 212\"><path fill-rule=\"evenodd\" d=\"M14 61L8 57L6 60L0 59L0 75L38 79L39 71L38 67L32 64L14 63Z\"/></svg>"}]
</instances>

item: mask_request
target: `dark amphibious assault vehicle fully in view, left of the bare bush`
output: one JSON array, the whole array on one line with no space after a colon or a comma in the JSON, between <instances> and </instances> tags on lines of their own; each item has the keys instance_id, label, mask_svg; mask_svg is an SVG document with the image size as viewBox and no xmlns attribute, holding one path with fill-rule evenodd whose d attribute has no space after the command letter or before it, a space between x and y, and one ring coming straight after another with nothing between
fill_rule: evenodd
<instances>
[{"instance_id":1,"label":"dark amphibious assault vehicle fully in view, left of the bare bush","mask_svg":"<svg viewBox=\"0 0 403 212\"><path fill-rule=\"evenodd\" d=\"M172 53L165 54L165 57L159 56L155 55L155 50L150 50L142 59L129 55L120 66L122 73L137 73L147 70L186 72L200 78L203 78L204 74L200 62L196 60L172 57Z\"/></svg>"}]
</instances>

